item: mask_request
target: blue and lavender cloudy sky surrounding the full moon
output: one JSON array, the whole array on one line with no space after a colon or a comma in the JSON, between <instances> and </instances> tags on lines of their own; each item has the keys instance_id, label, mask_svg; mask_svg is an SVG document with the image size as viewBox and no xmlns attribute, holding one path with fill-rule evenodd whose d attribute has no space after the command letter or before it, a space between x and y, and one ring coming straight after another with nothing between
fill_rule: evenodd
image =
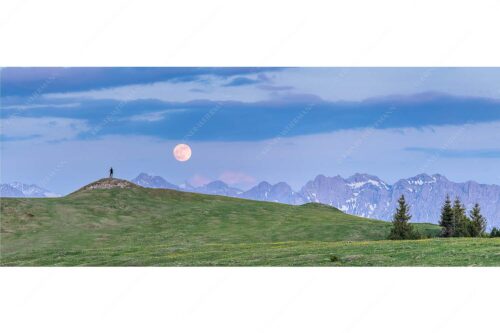
<instances>
[{"instance_id":1,"label":"blue and lavender cloudy sky surrounding the full moon","mask_svg":"<svg viewBox=\"0 0 500 333\"><path fill-rule=\"evenodd\" d=\"M500 184L500 68L3 68L1 182ZM179 162L176 144L193 154Z\"/></svg>"}]
</instances>

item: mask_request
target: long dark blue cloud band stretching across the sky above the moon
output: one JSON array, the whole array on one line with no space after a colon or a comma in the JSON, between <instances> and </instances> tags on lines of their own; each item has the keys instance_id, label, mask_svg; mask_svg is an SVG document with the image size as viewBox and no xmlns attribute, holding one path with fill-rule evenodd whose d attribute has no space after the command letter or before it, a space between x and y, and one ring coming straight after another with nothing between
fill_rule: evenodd
<instances>
[{"instance_id":1,"label":"long dark blue cloud band stretching across the sky above the moon","mask_svg":"<svg viewBox=\"0 0 500 333\"><path fill-rule=\"evenodd\" d=\"M436 93L362 102L328 102L315 96L286 93L260 102L91 99L79 103L80 106L72 109L23 110L22 115L71 117L99 128L105 123L99 135L134 134L172 140L182 140L189 135L190 140L219 141L258 141L346 129L423 128L500 120L498 100ZM16 110L2 111L4 118L19 116ZM196 131L190 135L193 128Z\"/></svg>"}]
</instances>

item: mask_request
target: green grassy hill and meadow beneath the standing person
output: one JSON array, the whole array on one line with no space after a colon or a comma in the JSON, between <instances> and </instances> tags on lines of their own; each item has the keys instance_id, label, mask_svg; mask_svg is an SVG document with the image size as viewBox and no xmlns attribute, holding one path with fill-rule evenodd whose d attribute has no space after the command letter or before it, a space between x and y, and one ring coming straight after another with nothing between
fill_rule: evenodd
<instances>
[{"instance_id":1,"label":"green grassy hill and meadow beneath the standing person","mask_svg":"<svg viewBox=\"0 0 500 333\"><path fill-rule=\"evenodd\" d=\"M500 240L392 242L390 223L319 204L99 184L63 198L2 199L1 265L500 264Z\"/></svg>"}]
</instances>

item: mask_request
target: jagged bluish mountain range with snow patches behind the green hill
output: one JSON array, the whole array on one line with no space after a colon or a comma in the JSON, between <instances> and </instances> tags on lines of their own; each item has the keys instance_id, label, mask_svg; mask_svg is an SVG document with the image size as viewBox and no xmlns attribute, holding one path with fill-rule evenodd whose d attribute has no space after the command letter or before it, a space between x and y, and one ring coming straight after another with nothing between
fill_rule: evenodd
<instances>
[{"instance_id":1,"label":"jagged bluish mountain range with snow patches behind the green hill","mask_svg":"<svg viewBox=\"0 0 500 333\"><path fill-rule=\"evenodd\" d=\"M389 221L397 199L404 195L411 206L412 221L437 223L440 208L446 195L459 197L470 209L478 202L488 220L488 226L500 226L500 186L479 184L474 181L456 183L434 174L420 174L388 184L380 178L356 173L351 177L318 175L299 191L285 182L270 184L262 181L249 190L231 187L216 180L203 186L189 183L175 185L161 176L140 173L131 180L149 188L163 188L211 195L223 195L250 200L300 205L308 202L323 203L339 208L345 213ZM2 184L2 197L54 197L58 196L36 185L21 183Z\"/></svg>"}]
</instances>

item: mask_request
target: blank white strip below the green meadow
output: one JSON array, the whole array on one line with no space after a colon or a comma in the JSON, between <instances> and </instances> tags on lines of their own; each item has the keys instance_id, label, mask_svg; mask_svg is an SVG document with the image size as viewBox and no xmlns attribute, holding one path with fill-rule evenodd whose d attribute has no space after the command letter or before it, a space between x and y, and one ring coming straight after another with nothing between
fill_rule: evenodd
<instances>
[{"instance_id":1,"label":"blank white strip below the green meadow","mask_svg":"<svg viewBox=\"0 0 500 333\"><path fill-rule=\"evenodd\" d=\"M500 270L488 268L1 273L4 332L486 332L500 296Z\"/></svg>"}]
</instances>

